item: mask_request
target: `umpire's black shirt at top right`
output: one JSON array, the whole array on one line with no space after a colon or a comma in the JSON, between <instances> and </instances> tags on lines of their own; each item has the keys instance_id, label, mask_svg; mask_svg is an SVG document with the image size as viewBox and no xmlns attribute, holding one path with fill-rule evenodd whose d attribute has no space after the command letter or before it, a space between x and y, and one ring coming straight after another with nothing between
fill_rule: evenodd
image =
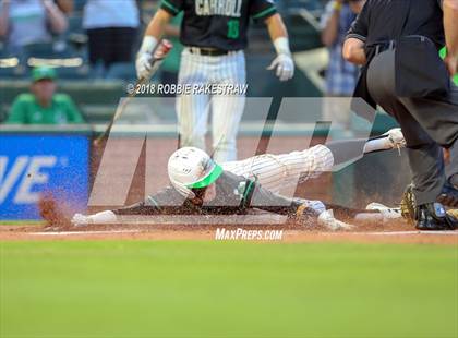
<instances>
[{"instance_id":1,"label":"umpire's black shirt at top right","mask_svg":"<svg viewBox=\"0 0 458 338\"><path fill-rule=\"evenodd\" d=\"M396 39L402 35L429 37L437 47L445 45L443 0L412 0L406 21L408 0L367 0L350 27L347 38L362 40L366 46Z\"/></svg>"}]
</instances>

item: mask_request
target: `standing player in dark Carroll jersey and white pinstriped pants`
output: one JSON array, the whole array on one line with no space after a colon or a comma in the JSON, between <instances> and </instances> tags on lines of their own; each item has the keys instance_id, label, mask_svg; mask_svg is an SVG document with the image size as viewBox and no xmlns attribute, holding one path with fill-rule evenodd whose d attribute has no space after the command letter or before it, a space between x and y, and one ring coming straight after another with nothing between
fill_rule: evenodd
<instances>
[{"instance_id":1,"label":"standing player in dark Carroll jersey and white pinstriped pants","mask_svg":"<svg viewBox=\"0 0 458 338\"><path fill-rule=\"evenodd\" d=\"M270 0L162 0L137 53L138 77L147 76L150 52L171 17L183 12L180 40L184 45L178 75L180 85L245 85L246 31L250 19L263 21L277 57L268 67L280 81L293 76L288 34ZM237 158L236 138L245 97L240 93L179 95L177 114L180 145L205 149L208 113L213 113L213 146L218 161Z\"/></svg>"}]
</instances>

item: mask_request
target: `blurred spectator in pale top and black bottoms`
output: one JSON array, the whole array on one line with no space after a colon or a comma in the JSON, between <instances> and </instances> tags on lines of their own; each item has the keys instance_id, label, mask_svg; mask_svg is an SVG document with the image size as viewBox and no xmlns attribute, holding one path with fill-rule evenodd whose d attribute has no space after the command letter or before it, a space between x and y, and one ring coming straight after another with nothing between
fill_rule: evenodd
<instances>
[{"instance_id":1,"label":"blurred spectator in pale top and black bottoms","mask_svg":"<svg viewBox=\"0 0 458 338\"><path fill-rule=\"evenodd\" d=\"M89 62L105 69L114 62L131 62L138 33L135 0L87 0L83 27L87 32Z\"/></svg>"}]
</instances>

